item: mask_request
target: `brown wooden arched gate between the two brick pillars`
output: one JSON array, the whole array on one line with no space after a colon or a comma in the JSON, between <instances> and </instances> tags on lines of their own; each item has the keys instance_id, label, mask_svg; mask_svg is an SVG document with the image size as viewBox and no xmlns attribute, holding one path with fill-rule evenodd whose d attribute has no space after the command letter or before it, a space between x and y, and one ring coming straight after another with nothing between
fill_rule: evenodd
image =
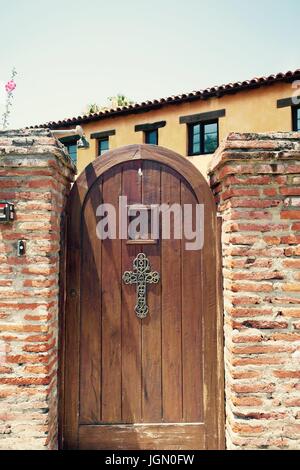
<instances>
[{"instance_id":1,"label":"brown wooden arched gate between the two brick pillars","mask_svg":"<svg viewBox=\"0 0 300 470\"><path fill-rule=\"evenodd\" d=\"M129 206L203 204L203 249L187 251L186 240L174 237L100 240L97 208L117 209L119 196ZM217 227L205 179L170 150L124 147L77 179L67 221L63 447L223 448ZM144 271L143 302L136 268L145 262L154 277ZM138 309L136 283L142 283ZM145 303L149 313L141 319Z\"/></svg>"}]
</instances>

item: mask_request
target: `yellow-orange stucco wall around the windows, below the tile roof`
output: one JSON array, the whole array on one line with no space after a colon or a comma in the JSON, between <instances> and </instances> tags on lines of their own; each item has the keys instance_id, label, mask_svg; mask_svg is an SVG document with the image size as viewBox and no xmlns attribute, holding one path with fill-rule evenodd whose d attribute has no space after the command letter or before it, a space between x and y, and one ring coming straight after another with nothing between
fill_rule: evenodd
<instances>
[{"instance_id":1,"label":"yellow-orange stucco wall around the windows, below the tile roof","mask_svg":"<svg viewBox=\"0 0 300 470\"><path fill-rule=\"evenodd\" d=\"M220 141L230 132L277 132L292 130L291 108L277 108L277 100L295 93L292 84L279 83L268 87L239 92L221 98L180 105L164 106L160 110L142 114L105 119L83 125L90 148L78 152L78 173L97 156L96 140L90 140L93 132L116 130L110 137L110 149L129 144L143 143L143 132L135 132L137 124L167 121L159 129L159 145L187 155L187 126L179 123L179 117L218 109L226 109L226 117L219 120ZM188 157L206 176L211 155Z\"/></svg>"}]
</instances>

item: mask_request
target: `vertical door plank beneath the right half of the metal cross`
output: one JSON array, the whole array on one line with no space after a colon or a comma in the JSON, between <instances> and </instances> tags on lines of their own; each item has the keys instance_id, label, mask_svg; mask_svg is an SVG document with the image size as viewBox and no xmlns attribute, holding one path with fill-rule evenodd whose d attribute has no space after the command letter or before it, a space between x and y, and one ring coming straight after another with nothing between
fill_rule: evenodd
<instances>
[{"instance_id":1,"label":"vertical door plank beneath the right half of the metal cross","mask_svg":"<svg viewBox=\"0 0 300 470\"><path fill-rule=\"evenodd\" d=\"M143 204L160 204L160 165L143 163ZM149 227L150 230L150 227ZM161 274L160 244L144 246L151 271ZM147 285L148 317L142 321L142 414L144 423L162 420L161 383L161 278L159 284Z\"/></svg>"}]
</instances>

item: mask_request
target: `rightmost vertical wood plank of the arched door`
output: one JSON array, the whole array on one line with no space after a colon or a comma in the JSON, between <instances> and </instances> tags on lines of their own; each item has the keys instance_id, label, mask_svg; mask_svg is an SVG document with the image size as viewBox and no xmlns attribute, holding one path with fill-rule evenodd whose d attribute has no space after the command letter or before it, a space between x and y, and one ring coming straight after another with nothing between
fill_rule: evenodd
<instances>
[{"instance_id":1,"label":"rightmost vertical wood plank of the arched door","mask_svg":"<svg viewBox=\"0 0 300 470\"><path fill-rule=\"evenodd\" d=\"M181 182L181 203L193 206L197 200L185 181ZM184 217L185 222L185 217ZM195 230L195 223L193 223ZM182 357L183 357L183 420L186 423L203 420L203 292L201 252L187 251L182 239ZM209 360L209 358L206 358Z\"/></svg>"}]
</instances>

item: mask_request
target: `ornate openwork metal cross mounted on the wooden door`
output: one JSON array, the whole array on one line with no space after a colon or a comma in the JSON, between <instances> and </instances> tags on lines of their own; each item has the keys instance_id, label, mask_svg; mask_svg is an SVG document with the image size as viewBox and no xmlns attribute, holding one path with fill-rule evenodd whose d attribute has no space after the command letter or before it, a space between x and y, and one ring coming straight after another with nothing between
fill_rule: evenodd
<instances>
[{"instance_id":1,"label":"ornate openwork metal cross mounted on the wooden door","mask_svg":"<svg viewBox=\"0 0 300 470\"><path fill-rule=\"evenodd\" d=\"M160 275L158 272L151 272L150 261L144 253L137 255L133 262L133 271L126 271L123 281L125 284L136 284L137 305L134 310L138 318L146 318L149 313L147 284L158 284Z\"/></svg>"}]
</instances>

